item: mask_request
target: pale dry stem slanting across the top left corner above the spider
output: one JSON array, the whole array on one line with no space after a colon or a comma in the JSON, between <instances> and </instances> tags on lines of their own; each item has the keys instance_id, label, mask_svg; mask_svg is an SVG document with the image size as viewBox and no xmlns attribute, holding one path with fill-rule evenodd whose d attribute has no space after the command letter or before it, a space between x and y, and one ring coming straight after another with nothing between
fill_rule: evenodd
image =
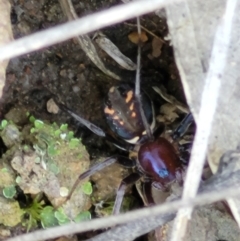
<instances>
[{"instance_id":1,"label":"pale dry stem slanting across the top left corner above the spider","mask_svg":"<svg viewBox=\"0 0 240 241\"><path fill-rule=\"evenodd\" d=\"M0 60L30 53L142 14L153 12L181 0L138 0L91 14L51 29L31 34L0 47Z\"/></svg>"}]
</instances>

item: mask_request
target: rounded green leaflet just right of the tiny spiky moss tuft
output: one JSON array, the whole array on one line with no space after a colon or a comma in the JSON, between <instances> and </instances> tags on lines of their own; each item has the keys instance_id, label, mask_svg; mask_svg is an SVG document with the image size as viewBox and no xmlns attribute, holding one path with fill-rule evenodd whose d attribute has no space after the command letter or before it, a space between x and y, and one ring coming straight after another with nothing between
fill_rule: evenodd
<instances>
[{"instance_id":1,"label":"rounded green leaflet just right of the tiny spiky moss tuft","mask_svg":"<svg viewBox=\"0 0 240 241\"><path fill-rule=\"evenodd\" d=\"M54 209L46 206L40 213L41 224L43 228L49 228L58 225L58 220L54 216Z\"/></svg>"}]
</instances>

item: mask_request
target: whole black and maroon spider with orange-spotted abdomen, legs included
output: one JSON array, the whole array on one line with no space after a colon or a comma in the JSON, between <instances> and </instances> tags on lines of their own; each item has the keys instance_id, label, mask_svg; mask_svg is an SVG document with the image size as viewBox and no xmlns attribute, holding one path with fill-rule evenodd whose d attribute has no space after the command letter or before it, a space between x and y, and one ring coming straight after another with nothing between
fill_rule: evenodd
<instances>
[{"instance_id":1,"label":"whole black and maroon spider with orange-spotted abdomen, legs included","mask_svg":"<svg viewBox=\"0 0 240 241\"><path fill-rule=\"evenodd\" d=\"M80 181L114 162L119 161L121 163L122 160L126 161L126 159L129 163L134 161L137 172L133 172L122 180L117 191L113 209L114 214L120 210L126 186L135 183L142 177L147 180L148 184L151 183L154 187L161 190L166 190L174 181L182 182L183 163L180 161L176 147L165 137L149 136L149 133L146 131L146 125L148 125L150 129L150 134L158 133L159 127L156 126L154 108L148 95L142 92L140 100L141 102L136 98L134 87L129 84L111 87L105 100L104 113L107 123L116 136L127 142L126 147L119 145L119 142L115 138L106 134L99 127L77 116L65 106L60 105L95 134L105 136L107 140L111 141L117 147L136 154L135 158L131 159L116 155L106 159L102 163L94 165L79 176L69 194L69 198ZM141 108L143 115L146 117L146 122L144 122L141 114ZM180 137L192 121L192 115L188 114L179 128L173 132L172 136L174 136L175 139ZM162 129L162 126L160 126L160 130ZM172 138L170 138L170 140L173 142ZM149 193L149 191L144 192L145 194ZM152 203L152 197L145 198L147 202L149 200L148 203Z\"/></svg>"}]
</instances>

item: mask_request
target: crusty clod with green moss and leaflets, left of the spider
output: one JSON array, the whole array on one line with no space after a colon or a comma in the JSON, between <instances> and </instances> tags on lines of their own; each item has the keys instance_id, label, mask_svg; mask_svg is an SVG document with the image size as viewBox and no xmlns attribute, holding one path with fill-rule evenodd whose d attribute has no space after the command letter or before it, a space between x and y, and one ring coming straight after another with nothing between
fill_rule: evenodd
<instances>
[{"instance_id":1,"label":"crusty clod with green moss and leaflets, left of the spider","mask_svg":"<svg viewBox=\"0 0 240 241\"><path fill-rule=\"evenodd\" d=\"M23 138L19 138L18 145L15 147L14 151L13 149L8 150L11 153L11 160L12 156L16 153L16 149L18 151L20 150L22 154L22 156L20 156L22 157L23 164L20 164L20 166L15 169L17 171L17 177L16 175L13 176L13 183L14 185L19 185L23 192L25 192L24 188L26 188L26 193L29 193L29 190L34 190L32 194L36 194L34 193L35 190L39 189L41 192L44 192L49 201L54 204L57 202L57 198L59 198L53 197L54 195L51 196L53 191L56 191L56 186L59 185L59 187L66 187L70 190L73 183L73 180L71 179L75 179L72 176L76 167L78 168L77 170L80 171L84 171L84 166L86 166L85 168L88 167L86 164L78 164L80 160L82 160L83 163L89 162L88 153L85 151L85 147L82 145L81 140L74 138L73 132L68 130L67 124L63 124L59 127L56 123L46 124L40 120L36 120L35 117L29 113L26 115L29 117L30 123L22 133L20 133L19 128L16 125L9 124L8 122L2 122L2 129L0 128L2 134L6 130L6 127L13 125L14 128L23 135ZM29 175L26 173L27 171L25 172L26 169L23 167L24 162L30 163L30 166L32 165L31 168L35 168L31 179L28 179ZM22 170L19 170L21 168ZM36 173L36 171L38 173ZM8 170L2 168L1 173L5 172L8 172ZM79 173L75 173L74 176L77 177L78 174ZM32 180L34 180L33 183L31 183ZM42 185L42 183L44 183L44 185ZM49 183L50 185L48 186ZM55 183L57 185L54 186L53 184ZM6 198L12 199L16 194L14 185L2 185L4 188L3 194L5 200L7 200ZM91 183L86 183L83 188L79 187L78 190L90 195L92 193L92 185ZM50 195L48 196L49 193ZM85 196L86 195L84 195L84 197ZM76 200L74 203L76 203L75 205L78 205ZM75 206L73 207L75 208ZM64 209L60 208L55 210L51 206L45 206L45 203L41 201L39 195L37 195L31 201L31 204L22 211L25 214L22 224L28 231L37 227L40 223L44 228L47 228L70 222ZM79 211L80 210L76 208L76 212L79 213ZM86 220L91 216L89 213L81 213L82 216L80 215L77 220ZM75 215L73 215L73 217L74 216ZM71 219L73 219L73 217L71 217Z\"/></svg>"}]
</instances>

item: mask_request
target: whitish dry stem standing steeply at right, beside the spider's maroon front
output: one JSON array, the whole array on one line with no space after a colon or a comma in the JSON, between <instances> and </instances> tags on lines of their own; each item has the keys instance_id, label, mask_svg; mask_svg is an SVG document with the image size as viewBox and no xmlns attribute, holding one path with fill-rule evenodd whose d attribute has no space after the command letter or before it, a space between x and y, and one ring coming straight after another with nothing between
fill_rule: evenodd
<instances>
[{"instance_id":1,"label":"whitish dry stem standing steeply at right, beside the spider's maroon front","mask_svg":"<svg viewBox=\"0 0 240 241\"><path fill-rule=\"evenodd\" d=\"M184 184L183 200L195 197L200 183L211 126L217 107L221 78L225 69L236 3L237 0L227 1L225 13L220 21L214 38L209 71L205 80L199 118L197 120L196 136ZM192 208L179 211L174 222L174 231L171 241L180 241L184 239L191 213Z\"/></svg>"}]
</instances>

